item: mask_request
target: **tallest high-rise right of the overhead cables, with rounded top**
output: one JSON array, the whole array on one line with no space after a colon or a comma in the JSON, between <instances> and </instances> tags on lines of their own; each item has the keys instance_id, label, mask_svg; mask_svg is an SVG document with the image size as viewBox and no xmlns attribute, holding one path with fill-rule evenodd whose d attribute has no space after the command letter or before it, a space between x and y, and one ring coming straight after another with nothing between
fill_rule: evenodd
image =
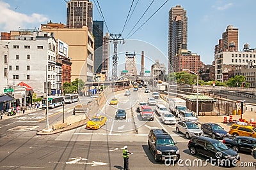
<instances>
[{"instance_id":1,"label":"tallest high-rise right of the overhead cables, with rounded top","mask_svg":"<svg viewBox=\"0 0 256 170\"><path fill-rule=\"evenodd\" d=\"M169 11L168 32L168 69L173 70L173 58L179 49L187 49L188 44L188 18L187 11L177 5Z\"/></svg>"}]
</instances>

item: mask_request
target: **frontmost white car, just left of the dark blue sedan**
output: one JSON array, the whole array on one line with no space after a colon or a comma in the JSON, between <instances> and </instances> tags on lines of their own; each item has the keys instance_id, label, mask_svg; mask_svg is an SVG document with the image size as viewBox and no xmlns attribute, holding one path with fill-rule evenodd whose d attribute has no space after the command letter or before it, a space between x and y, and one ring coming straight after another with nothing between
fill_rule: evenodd
<instances>
[{"instance_id":1,"label":"frontmost white car, just left of the dark blue sedan","mask_svg":"<svg viewBox=\"0 0 256 170\"><path fill-rule=\"evenodd\" d=\"M193 122L184 120L176 124L176 132L185 134L187 139L190 139L192 136L204 135L204 132L198 127L198 125L194 124Z\"/></svg>"}]
</instances>

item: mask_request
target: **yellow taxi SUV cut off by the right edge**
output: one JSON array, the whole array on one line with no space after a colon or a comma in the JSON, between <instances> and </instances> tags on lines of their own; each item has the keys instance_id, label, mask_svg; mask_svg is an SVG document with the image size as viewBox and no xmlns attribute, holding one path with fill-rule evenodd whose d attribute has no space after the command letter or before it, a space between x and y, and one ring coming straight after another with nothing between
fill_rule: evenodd
<instances>
[{"instance_id":1,"label":"yellow taxi SUV cut off by the right edge","mask_svg":"<svg viewBox=\"0 0 256 170\"><path fill-rule=\"evenodd\" d=\"M228 133L234 138L237 136L249 136L256 138L256 127L246 124L233 124L230 126Z\"/></svg>"}]
</instances>

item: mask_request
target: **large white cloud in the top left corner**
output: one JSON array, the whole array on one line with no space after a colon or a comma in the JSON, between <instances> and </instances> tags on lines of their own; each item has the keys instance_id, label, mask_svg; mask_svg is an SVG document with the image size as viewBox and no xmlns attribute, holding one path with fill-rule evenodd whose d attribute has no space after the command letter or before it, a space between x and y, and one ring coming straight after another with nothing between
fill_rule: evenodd
<instances>
[{"instance_id":1,"label":"large white cloud in the top left corner","mask_svg":"<svg viewBox=\"0 0 256 170\"><path fill-rule=\"evenodd\" d=\"M0 31L11 31L20 28L31 29L31 27L38 26L42 22L49 20L44 15L38 13L32 13L26 15L10 10L10 4L0 1ZM27 25L30 25L27 27ZM32 26L33 25L33 26Z\"/></svg>"}]
</instances>

